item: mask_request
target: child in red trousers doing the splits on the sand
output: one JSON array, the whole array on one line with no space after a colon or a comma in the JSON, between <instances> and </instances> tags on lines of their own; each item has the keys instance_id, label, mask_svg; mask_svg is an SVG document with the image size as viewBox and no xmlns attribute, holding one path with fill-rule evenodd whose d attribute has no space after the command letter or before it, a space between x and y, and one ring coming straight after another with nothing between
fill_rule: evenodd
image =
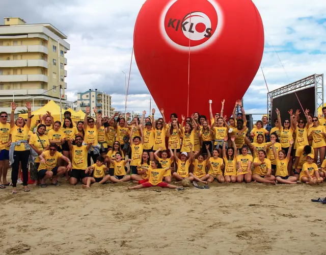
<instances>
[{"instance_id":1,"label":"child in red trousers doing the splits on the sand","mask_svg":"<svg viewBox=\"0 0 326 255\"><path fill-rule=\"evenodd\" d=\"M169 170L170 167L162 168L161 164L158 162L157 159L154 159L149 167L142 166L141 168L144 171L148 172L148 176L149 176L148 182L144 182L142 184L133 187L128 187L127 189L132 190L132 189L149 188L155 186L161 188L183 190L183 188L179 188L177 186L163 182L163 175Z\"/></svg>"}]
</instances>

